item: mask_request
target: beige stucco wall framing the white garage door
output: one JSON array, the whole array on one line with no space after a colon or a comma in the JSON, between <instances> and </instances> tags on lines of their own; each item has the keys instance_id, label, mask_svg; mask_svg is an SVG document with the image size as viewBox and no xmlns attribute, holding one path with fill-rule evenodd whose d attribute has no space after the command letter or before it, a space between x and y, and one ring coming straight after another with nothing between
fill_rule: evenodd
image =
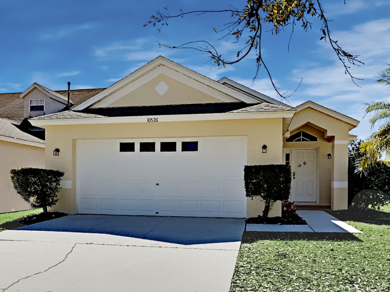
<instances>
[{"instance_id":1,"label":"beige stucco wall framing the white garage door","mask_svg":"<svg viewBox=\"0 0 390 292\"><path fill-rule=\"evenodd\" d=\"M247 136L247 164L282 164L282 118L256 120L183 121L101 125L46 126L46 168L65 172L69 188L62 188L53 211L76 213L76 140L120 138ZM261 146L268 146L262 153ZM53 150L60 149L59 156ZM65 183L64 183L65 185ZM247 200L247 216L262 214L259 200ZM280 202L270 216L280 216Z\"/></svg>"}]
</instances>

